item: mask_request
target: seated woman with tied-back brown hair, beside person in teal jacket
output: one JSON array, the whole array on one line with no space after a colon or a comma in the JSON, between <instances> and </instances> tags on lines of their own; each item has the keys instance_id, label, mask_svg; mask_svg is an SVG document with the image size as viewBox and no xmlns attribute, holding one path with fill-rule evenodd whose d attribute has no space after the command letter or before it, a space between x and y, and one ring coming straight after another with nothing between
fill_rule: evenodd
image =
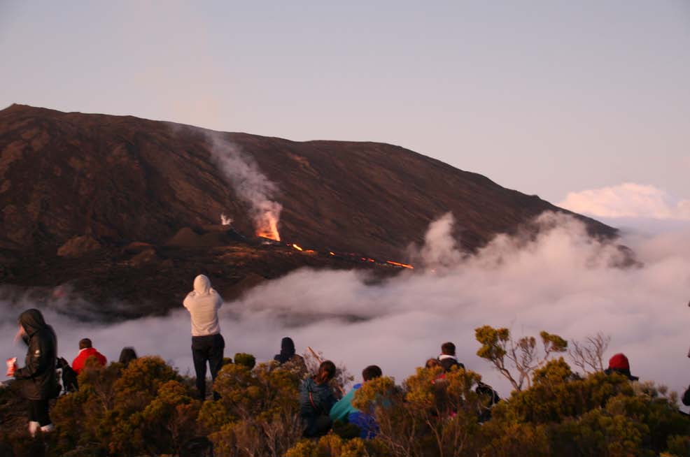
<instances>
[{"instance_id":1,"label":"seated woman with tied-back brown hair, beside person in teal jacket","mask_svg":"<svg viewBox=\"0 0 690 457\"><path fill-rule=\"evenodd\" d=\"M335 405L333 389L329 385L335 377L335 363L323 361L314 377L304 379L300 386L300 417L306 423L304 437L319 437L332 426L330 409Z\"/></svg>"}]
</instances>

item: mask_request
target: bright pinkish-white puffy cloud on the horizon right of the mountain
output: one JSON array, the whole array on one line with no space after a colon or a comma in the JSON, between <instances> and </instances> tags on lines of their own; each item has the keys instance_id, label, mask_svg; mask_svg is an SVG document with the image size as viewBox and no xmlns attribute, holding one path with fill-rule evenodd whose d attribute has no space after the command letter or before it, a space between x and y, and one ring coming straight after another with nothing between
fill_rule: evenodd
<instances>
[{"instance_id":1,"label":"bright pinkish-white puffy cloud on the horizon right of the mountain","mask_svg":"<svg viewBox=\"0 0 690 457\"><path fill-rule=\"evenodd\" d=\"M662 189L634 182L570 192L558 206L595 217L690 220L690 200L673 198Z\"/></svg>"}]
</instances>

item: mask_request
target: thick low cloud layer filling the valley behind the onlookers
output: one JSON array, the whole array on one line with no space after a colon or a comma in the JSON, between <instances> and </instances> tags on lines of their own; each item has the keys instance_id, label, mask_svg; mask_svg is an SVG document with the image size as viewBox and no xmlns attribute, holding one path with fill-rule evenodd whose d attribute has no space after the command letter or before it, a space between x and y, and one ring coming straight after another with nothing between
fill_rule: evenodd
<instances>
[{"instance_id":1,"label":"thick low cloud layer filling the valley behind the onlookers","mask_svg":"<svg viewBox=\"0 0 690 457\"><path fill-rule=\"evenodd\" d=\"M687 229L626 238L644 266L620 269L611 267L618 249L592 240L580 222L563 215L538 218L544 229L536 238L498 235L474 256L454 249L452 223L446 215L432 224L425 246L417 249L426 269L402 271L375 285L355 271L302 269L225 303L226 354L250 352L266 361L290 335L298 350L310 345L355 375L376 363L400 382L436 356L442 342L453 341L465 366L507 396L507 382L476 356L474 328L506 326L516 336L546 330L568 340L603 331L612 336L606 360L624 352L633 375L681 393L687 387ZM17 315L30 305L0 303L4 357L24 356L12 337ZM160 354L181 372L193 372L189 316L182 307L168 317L110 326L44 312L64 356L75 356L78 340L88 336L109 359L133 345L140 355Z\"/></svg>"}]
</instances>

